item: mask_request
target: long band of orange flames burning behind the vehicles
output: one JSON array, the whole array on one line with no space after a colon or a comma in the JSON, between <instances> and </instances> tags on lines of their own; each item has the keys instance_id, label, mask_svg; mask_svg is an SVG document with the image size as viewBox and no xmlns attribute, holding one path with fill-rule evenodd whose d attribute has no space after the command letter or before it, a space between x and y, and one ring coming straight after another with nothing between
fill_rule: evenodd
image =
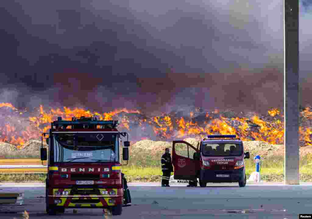
<instances>
[{"instance_id":1,"label":"long band of orange flames burning behind the vehicles","mask_svg":"<svg viewBox=\"0 0 312 219\"><path fill-rule=\"evenodd\" d=\"M1 107L17 110L10 103L0 103L0 109ZM129 115L127 115L129 113L137 114L136 119L129 119ZM133 130L134 124L145 133L149 130L148 127L151 126L153 132L146 133L146 136L153 137L156 135L162 139L170 140L185 137L203 138L210 134L235 134L244 141L257 140L271 144L282 144L284 140L284 123L276 118L276 115L283 116L280 114L279 109L269 110L264 118L255 115L251 118L236 117L231 119L223 117L222 113L216 109L211 113L203 112L203 121L195 122L195 114L197 113L196 110L191 112L188 118L176 118L174 115L168 114L147 118L139 110L126 108L116 109L108 113L99 113L81 108L70 109L67 107L46 111L40 105L37 115L34 112L34 115L29 118L17 115L15 112L13 116L6 115L3 119L1 117L0 121L2 122L3 120L4 123L0 126L0 141L9 142L21 148L30 139L40 139L41 133L48 132L50 123L59 116L65 120L81 116L97 116L100 120L116 119L120 121L119 129L121 131L130 132ZM300 114L303 121L309 122L309 120L312 120L310 108L304 109ZM309 124L301 126L299 132L301 145L312 145L312 128L309 127ZM150 139L150 137L140 137L139 139Z\"/></svg>"}]
</instances>

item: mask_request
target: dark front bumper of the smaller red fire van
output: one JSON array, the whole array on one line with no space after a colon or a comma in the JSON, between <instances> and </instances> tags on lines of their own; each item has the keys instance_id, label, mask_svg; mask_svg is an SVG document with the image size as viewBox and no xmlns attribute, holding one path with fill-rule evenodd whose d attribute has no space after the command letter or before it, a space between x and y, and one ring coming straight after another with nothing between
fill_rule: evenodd
<instances>
[{"instance_id":1,"label":"dark front bumper of the smaller red fire van","mask_svg":"<svg viewBox=\"0 0 312 219\"><path fill-rule=\"evenodd\" d=\"M229 175L229 177L217 177ZM245 178L244 168L236 170L200 170L200 180L204 183L236 183Z\"/></svg>"}]
</instances>

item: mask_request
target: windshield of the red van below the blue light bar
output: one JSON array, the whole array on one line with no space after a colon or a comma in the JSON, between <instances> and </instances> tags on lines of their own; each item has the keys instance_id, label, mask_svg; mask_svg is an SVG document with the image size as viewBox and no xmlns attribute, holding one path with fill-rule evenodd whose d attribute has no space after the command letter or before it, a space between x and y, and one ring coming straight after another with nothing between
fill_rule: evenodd
<instances>
[{"instance_id":1,"label":"windshield of the red van below the blue light bar","mask_svg":"<svg viewBox=\"0 0 312 219\"><path fill-rule=\"evenodd\" d=\"M243 146L240 143L204 143L202 144L203 156L241 156Z\"/></svg>"}]
</instances>

